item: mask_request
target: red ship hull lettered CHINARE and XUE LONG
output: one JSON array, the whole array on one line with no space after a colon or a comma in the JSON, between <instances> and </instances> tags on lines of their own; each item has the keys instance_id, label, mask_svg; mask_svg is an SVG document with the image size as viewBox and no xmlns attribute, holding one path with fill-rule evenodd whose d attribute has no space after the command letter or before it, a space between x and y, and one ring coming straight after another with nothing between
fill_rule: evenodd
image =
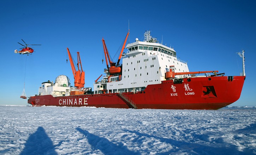
<instances>
[{"instance_id":1,"label":"red ship hull lettered CHINARE and XUE LONG","mask_svg":"<svg viewBox=\"0 0 256 155\"><path fill-rule=\"evenodd\" d=\"M166 80L148 85L144 91L122 93L138 109L220 109L240 97L245 76L184 78L183 81ZM119 93L94 95L32 96L32 105L95 106L105 108L131 108Z\"/></svg>"}]
</instances>

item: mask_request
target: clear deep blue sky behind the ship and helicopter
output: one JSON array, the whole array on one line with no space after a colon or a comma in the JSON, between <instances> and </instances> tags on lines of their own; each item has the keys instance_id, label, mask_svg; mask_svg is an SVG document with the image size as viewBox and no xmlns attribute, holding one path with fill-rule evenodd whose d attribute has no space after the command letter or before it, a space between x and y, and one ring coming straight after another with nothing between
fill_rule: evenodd
<instances>
[{"instance_id":1,"label":"clear deep blue sky behind the ship and helicopter","mask_svg":"<svg viewBox=\"0 0 256 155\"><path fill-rule=\"evenodd\" d=\"M166 0L0 1L0 104L27 105L19 98L38 93L42 82L66 75L74 85L66 47L74 58L80 52L86 71L85 86L102 73L104 37L112 57L130 28L130 43L143 40L144 32L174 47L177 57L188 61L190 71L219 70L227 76L242 72L245 50L246 80L240 99L233 106L256 106L256 1ZM31 46L32 55L15 54L17 42ZM125 51L126 52L126 51ZM25 70L25 64L27 65Z\"/></svg>"}]
</instances>

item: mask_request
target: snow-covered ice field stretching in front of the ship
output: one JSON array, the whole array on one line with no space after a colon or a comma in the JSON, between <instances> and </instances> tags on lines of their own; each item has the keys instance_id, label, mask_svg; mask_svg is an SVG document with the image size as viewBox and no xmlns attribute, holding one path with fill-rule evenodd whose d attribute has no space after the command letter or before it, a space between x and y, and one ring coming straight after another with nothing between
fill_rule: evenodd
<instances>
[{"instance_id":1,"label":"snow-covered ice field stretching in front of the ship","mask_svg":"<svg viewBox=\"0 0 256 155\"><path fill-rule=\"evenodd\" d=\"M0 106L0 154L256 154L256 108Z\"/></svg>"}]
</instances>

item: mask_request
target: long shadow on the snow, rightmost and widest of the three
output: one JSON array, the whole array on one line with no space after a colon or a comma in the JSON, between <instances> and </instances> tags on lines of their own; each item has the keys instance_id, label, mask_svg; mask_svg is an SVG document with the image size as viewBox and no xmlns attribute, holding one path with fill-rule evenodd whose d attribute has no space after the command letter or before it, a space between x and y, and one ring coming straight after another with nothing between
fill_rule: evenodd
<instances>
[{"instance_id":1,"label":"long shadow on the snow, rightmost and widest of the three","mask_svg":"<svg viewBox=\"0 0 256 155\"><path fill-rule=\"evenodd\" d=\"M187 152L188 154L208 154L208 155L243 154L243 152L239 153L237 147L234 145L231 145L230 147L227 147L226 145L220 145L220 147L211 147L211 146L206 146L198 143L185 142L184 140L177 141L171 138L163 138L163 137L153 136L149 134L143 134L138 131L130 131L130 130L124 130L124 131L129 133L135 133L139 137L155 138L160 142L169 143L171 144L171 146L174 146L174 149L169 150L162 154L170 154L178 151L182 151L182 152L189 151Z\"/></svg>"}]
</instances>

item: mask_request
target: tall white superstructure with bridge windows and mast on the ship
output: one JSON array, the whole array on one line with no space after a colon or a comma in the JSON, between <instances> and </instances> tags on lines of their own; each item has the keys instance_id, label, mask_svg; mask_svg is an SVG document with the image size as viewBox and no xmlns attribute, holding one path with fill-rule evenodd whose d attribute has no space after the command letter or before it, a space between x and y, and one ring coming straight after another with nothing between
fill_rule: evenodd
<instances>
[{"instance_id":1,"label":"tall white superstructure with bridge windows and mast on the ship","mask_svg":"<svg viewBox=\"0 0 256 155\"><path fill-rule=\"evenodd\" d=\"M143 91L149 84L159 84L165 79L165 72L170 66L175 66L175 72L189 72L187 63L177 59L176 51L159 44L156 38L146 31L144 41L136 38L128 44L127 53L122 56L122 72L110 75L104 69L106 76L94 84L94 93L106 92L137 92ZM176 76L182 78L184 75Z\"/></svg>"}]
</instances>

